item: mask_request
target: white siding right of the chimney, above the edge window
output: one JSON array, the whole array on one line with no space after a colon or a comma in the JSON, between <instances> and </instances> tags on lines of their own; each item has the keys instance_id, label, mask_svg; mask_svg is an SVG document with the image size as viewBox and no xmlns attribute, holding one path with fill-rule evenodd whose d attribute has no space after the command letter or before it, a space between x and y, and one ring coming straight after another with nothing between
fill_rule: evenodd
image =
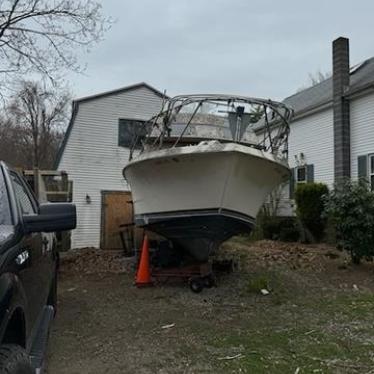
<instances>
[{"instance_id":1,"label":"white siding right of the chimney, above the edge window","mask_svg":"<svg viewBox=\"0 0 374 374\"><path fill-rule=\"evenodd\" d=\"M350 116L351 176L357 179L358 157L374 153L374 94L352 100Z\"/></svg>"}]
</instances>

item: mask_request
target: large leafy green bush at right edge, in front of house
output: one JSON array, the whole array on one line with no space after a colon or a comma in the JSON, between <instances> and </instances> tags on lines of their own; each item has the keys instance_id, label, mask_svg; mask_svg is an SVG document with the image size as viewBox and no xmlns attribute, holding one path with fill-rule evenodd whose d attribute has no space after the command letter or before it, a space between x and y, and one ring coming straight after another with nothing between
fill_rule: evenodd
<instances>
[{"instance_id":1,"label":"large leafy green bush at right edge, in front of house","mask_svg":"<svg viewBox=\"0 0 374 374\"><path fill-rule=\"evenodd\" d=\"M337 247L354 263L374 256L374 193L365 181L344 180L325 198L325 216L335 226Z\"/></svg>"}]
</instances>

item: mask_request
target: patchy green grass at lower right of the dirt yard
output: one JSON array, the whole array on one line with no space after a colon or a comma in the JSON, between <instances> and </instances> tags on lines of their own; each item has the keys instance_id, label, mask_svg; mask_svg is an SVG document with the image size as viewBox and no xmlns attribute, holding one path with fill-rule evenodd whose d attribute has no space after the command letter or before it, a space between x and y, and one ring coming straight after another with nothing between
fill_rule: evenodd
<instances>
[{"instance_id":1,"label":"patchy green grass at lower right of the dirt yard","mask_svg":"<svg viewBox=\"0 0 374 374\"><path fill-rule=\"evenodd\" d=\"M326 261L341 261L323 255ZM243 261L245 254L238 256ZM374 372L372 292L339 288L329 283L330 274L251 270L238 283L244 310L232 312L231 328L216 326L207 337L208 347L221 358L236 357L216 359L217 373ZM261 296L263 288L270 295Z\"/></svg>"}]
</instances>

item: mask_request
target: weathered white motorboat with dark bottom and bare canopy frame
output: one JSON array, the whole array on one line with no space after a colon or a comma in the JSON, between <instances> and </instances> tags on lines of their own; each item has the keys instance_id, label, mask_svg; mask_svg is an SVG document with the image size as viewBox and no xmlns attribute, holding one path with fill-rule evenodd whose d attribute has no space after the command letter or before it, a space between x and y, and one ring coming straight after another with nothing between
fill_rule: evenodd
<instances>
[{"instance_id":1,"label":"weathered white motorboat with dark bottom and bare canopy frame","mask_svg":"<svg viewBox=\"0 0 374 374\"><path fill-rule=\"evenodd\" d=\"M205 262L220 244L250 233L267 196L290 177L292 110L231 95L165 99L134 133L123 175L135 224Z\"/></svg>"}]
</instances>

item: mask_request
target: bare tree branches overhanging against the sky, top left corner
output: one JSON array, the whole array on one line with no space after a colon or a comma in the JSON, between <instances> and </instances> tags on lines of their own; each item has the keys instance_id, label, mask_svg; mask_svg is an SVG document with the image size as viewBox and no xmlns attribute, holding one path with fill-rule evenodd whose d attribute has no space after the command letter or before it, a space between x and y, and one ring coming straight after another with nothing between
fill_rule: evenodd
<instances>
[{"instance_id":1,"label":"bare tree branches overhanging against the sky, top left corner","mask_svg":"<svg viewBox=\"0 0 374 374\"><path fill-rule=\"evenodd\" d=\"M94 0L0 1L0 88L17 75L53 80L64 69L81 71L77 51L89 50L110 24Z\"/></svg>"}]
</instances>

